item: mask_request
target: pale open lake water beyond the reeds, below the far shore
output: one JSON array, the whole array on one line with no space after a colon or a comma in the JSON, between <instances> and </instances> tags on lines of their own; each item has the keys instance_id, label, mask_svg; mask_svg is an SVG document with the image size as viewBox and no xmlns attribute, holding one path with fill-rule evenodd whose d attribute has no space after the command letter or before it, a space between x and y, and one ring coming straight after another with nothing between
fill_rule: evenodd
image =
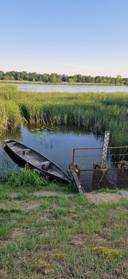
<instances>
[{"instance_id":1,"label":"pale open lake water beyond the reeds, below the far shore","mask_svg":"<svg viewBox=\"0 0 128 279\"><path fill-rule=\"evenodd\" d=\"M128 92L128 86L16 84L18 90L36 92Z\"/></svg>"}]
</instances>

